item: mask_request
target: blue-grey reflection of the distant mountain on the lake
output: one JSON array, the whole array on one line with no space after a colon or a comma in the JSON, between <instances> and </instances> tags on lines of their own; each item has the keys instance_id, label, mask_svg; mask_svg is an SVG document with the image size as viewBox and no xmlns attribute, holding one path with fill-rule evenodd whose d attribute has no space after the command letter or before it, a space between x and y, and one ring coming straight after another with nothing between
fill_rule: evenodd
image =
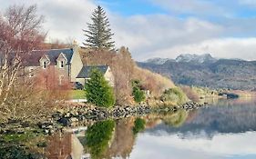
<instances>
[{"instance_id":1,"label":"blue-grey reflection of the distant mountain on the lake","mask_svg":"<svg viewBox=\"0 0 256 159\"><path fill-rule=\"evenodd\" d=\"M201 108L195 116L180 127L159 124L148 132L156 134L159 130L168 133L199 134L206 132L208 137L215 133L241 133L256 131L256 104L254 101L222 100L218 106ZM189 114L190 116L190 114Z\"/></svg>"}]
</instances>

